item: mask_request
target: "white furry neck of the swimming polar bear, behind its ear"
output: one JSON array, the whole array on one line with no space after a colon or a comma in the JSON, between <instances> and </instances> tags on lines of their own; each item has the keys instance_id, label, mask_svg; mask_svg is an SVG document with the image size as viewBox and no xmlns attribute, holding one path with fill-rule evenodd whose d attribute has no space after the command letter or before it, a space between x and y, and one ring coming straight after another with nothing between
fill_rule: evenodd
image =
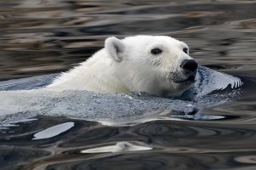
<instances>
[{"instance_id":1,"label":"white furry neck of the swimming polar bear, behind its ear","mask_svg":"<svg viewBox=\"0 0 256 170\"><path fill-rule=\"evenodd\" d=\"M102 94L129 94L129 89L113 69L117 64L118 61L109 58L108 54L102 49L73 70L63 73L61 77L53 82L53 86L49 87L58 88L58 90L96 91Z\"/></svg>"}]
</instances>

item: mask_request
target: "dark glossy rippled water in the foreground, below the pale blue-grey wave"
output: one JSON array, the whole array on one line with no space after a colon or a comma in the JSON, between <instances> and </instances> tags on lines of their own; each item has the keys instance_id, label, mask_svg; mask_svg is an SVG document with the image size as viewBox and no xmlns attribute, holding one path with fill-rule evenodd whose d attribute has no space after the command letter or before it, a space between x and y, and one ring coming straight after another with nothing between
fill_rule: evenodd
<instances>
[{"instance_id":1,"label":"dark glossy rippled water in the foreground, below the pale blue-grey wave","mask_svg":"<svg viewBox=\"0 0 256 170\"><path fill-rule=\"evenodd\" d=\"M51 139L32 140L34 133L71 121L74 126L67 132ZM255 167L256 129L246 124L155 121L106 127L96 122L43 116L19 125L3 133L1 145L11 144L12 148L8 152L2 149L1 156L23 169ZM33 161L28 161L31 156ZM11 168L9 161L2 161L2 165Z\"/></svg>"}]
</instances>

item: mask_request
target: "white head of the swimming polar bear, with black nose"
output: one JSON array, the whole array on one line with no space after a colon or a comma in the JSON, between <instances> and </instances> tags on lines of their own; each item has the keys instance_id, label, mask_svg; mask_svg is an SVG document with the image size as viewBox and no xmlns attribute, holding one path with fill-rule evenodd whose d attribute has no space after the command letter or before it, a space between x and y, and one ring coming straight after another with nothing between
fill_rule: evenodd
<instances>
[{"instance_id":1,"label":"white head of the swimming polar bear, with black nose","mask_svg":"<svg viewBox=\"0 0 256 170\"><path fill-rule=\"evenodd\" d=\"M158 96L182 94L194 82L195 59L186 43L166 36L136 36L105 41L113 70L130 91Z\"/></svg>"}]
</instances>

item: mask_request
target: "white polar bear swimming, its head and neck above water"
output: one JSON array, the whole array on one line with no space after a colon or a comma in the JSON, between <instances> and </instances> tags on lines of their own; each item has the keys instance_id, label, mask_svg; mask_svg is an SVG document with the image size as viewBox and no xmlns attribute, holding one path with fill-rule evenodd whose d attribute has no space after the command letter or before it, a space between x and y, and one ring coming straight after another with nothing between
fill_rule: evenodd
<instances>
[{"instance_id":1,"label":"white polar bear swimming, its head and neck above water","mask_svg":"<svg viewBox=\"0 0 256 170\"><path fill-rule=\"evenodd\" d=\"M104 48L62 73L47 88L172 96L182 94L195 82L197 67L188 45L175 38L108 37Z\"/></svg>"}]
</instances>

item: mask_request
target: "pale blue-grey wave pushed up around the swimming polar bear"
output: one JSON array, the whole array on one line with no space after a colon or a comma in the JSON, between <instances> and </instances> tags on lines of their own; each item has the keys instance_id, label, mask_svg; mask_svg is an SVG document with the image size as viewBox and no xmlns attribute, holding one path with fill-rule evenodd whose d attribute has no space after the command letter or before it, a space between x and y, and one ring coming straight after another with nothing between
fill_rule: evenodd
<instances>
[{"instance_id":1,"label":"pale blue-grey wave pushed up around the swimming polar bear","mask_svg":"<svg viewBox=\"0 0 256 170\"><path fill-rule=\"evenodd\" d=\"M44 90L56 76L55 74L1 82L2 123L35 116L69 116L119 125L181 117L218 119L221 116L205 115L200 111L235 98L243 84L238 77L199 66L194 86L182 95L172 98L136 92L127 95L79 90Z\"/></svg>"}]
</instances>

